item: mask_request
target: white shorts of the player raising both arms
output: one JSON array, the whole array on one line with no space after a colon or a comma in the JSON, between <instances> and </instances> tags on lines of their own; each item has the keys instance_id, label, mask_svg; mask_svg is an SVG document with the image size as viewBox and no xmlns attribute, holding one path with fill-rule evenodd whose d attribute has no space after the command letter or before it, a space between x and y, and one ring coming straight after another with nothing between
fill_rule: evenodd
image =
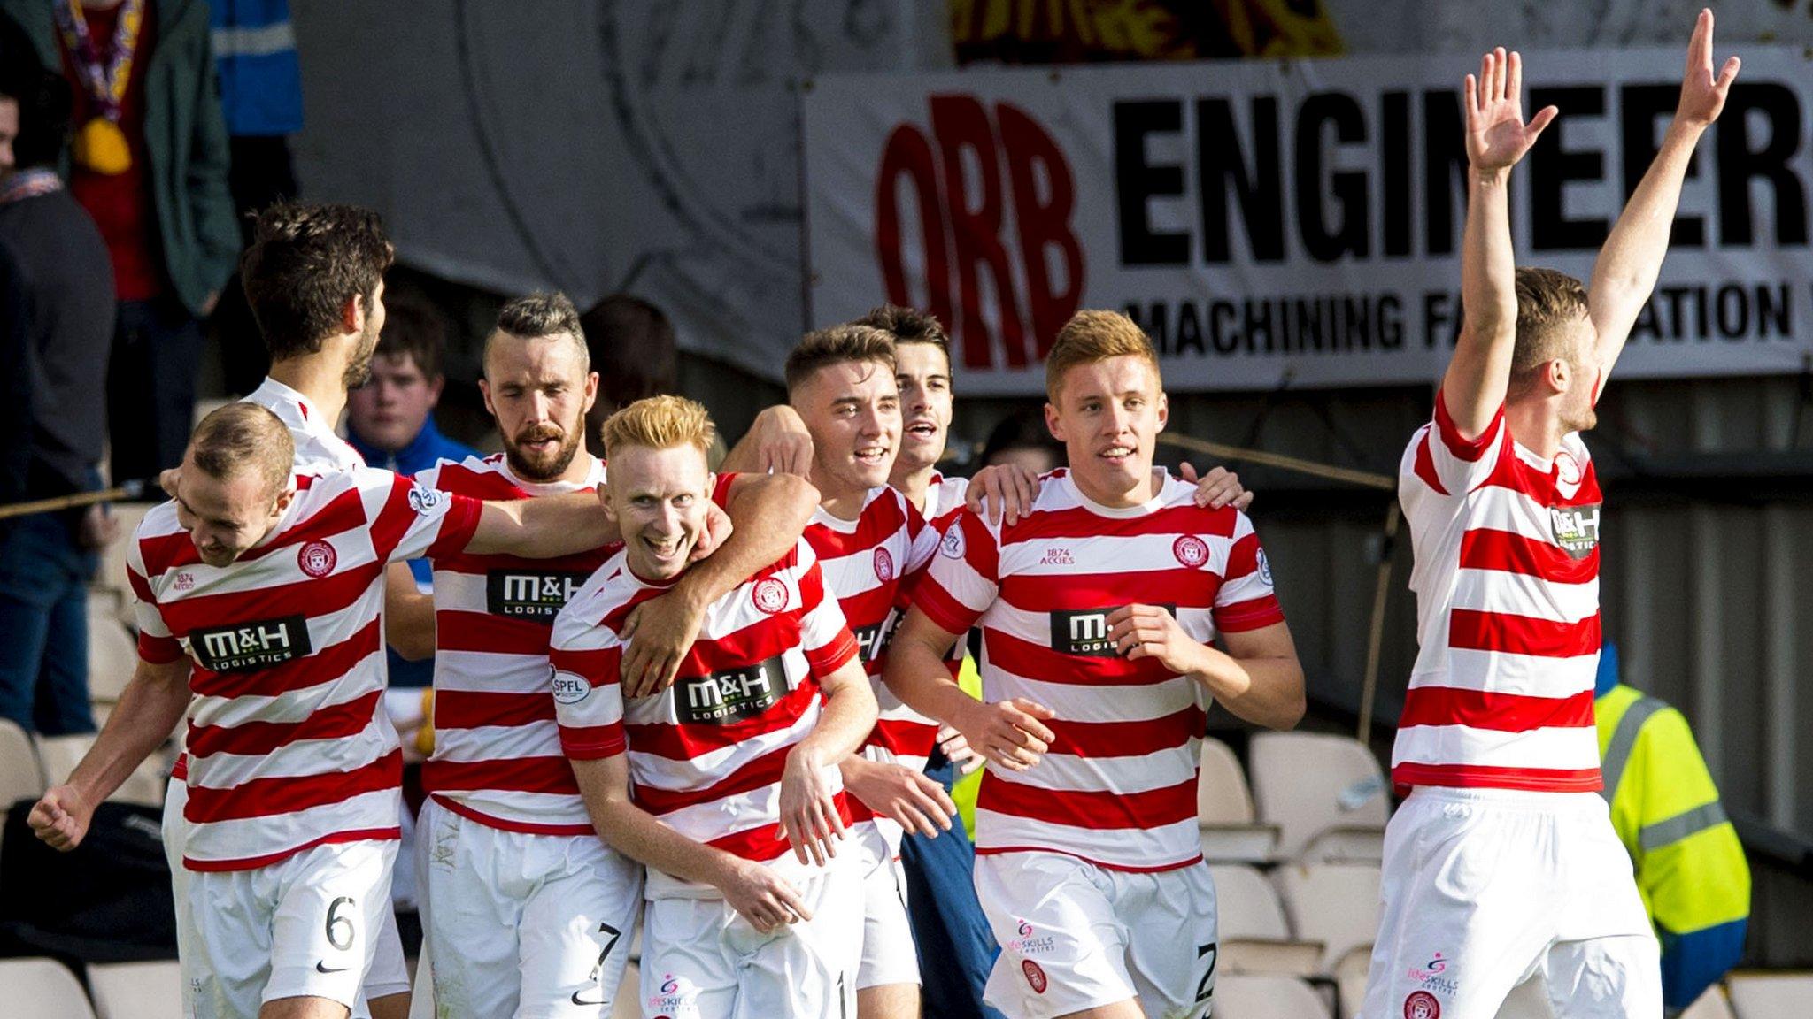
<instances>
[{"instance_id":1,"label":"white shorts of the player raising both arms","mask_svg":"<svg viewBox=\"0 0 1813 1019\"><path fill-rule=\"evenodd\" d=\"M1385 827L1380 898L1367 1019L1663 1014L1655 934L1595 792L1416 787Z\"/></svg>"}]
</instances>

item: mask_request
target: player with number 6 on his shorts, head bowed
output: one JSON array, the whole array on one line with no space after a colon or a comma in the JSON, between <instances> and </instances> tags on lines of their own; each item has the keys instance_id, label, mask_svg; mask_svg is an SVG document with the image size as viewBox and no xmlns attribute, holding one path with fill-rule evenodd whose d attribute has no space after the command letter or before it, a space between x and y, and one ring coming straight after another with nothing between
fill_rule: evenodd
<instances>
[{"instance_id":1,"label":"player with number 6 on his shorts, head bowed","mask_svg":"<svg viewBox=\"0 0 1813 1019\"><path fill-rule=\"evenodd\" d=\"M615 539L587 497L480 504L364 468L294 475L292 457L288 428L248 403L196 428L176 499L129 548L140 667L31 812L40 838L74 847L187 707L201 1019L334 1019L357 1001L401 834L401 752L375 711L384 564Z\"/></svg>"}]
</instances>

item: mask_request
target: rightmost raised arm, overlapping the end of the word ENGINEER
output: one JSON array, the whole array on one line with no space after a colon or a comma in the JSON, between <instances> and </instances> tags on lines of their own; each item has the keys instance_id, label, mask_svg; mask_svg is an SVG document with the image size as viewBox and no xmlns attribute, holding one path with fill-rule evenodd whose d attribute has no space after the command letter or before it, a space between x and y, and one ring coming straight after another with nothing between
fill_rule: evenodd
<instances>
[{"instance_id":1,"label":"rightmost raised arm, overlapping the end of the word ENGINEER","mask_svg":"<svg viewBox=\"0 0 1813 1019\"><path fill-rule=\"evenodd\" d=\"M1592 267L1586 312L1592 315L1599 345L1599 383L1594 397L1605 388L1612 364L1624 352L1630 326L1655 290L1663 257L1668 256L1668 230L1681 201L1681 181L1686 180L1693 161L1693 147L1724 111L1739 67L1739 58L1731 56L1717 76L1713 74L1711 11L1701 11L1693 40L1688 44L1688 67L1681 78L1675 120L1668 125L1661 150L1655 152L1648 172L1643 174L1605 247L1599 248L1599 261Z\"/></svg>"}]
</instances>

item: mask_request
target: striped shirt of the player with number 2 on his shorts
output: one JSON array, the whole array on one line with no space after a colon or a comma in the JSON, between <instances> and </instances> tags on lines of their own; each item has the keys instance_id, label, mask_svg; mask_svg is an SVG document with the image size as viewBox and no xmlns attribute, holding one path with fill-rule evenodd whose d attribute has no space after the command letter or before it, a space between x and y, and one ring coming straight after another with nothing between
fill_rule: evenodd
<instances>
[{"instance_id":1,"label":"striped shirt of the player with number 2 on his shorts","mask_svg":"<svg viewBox=\"0 0 1813 1019\"><path fill-rule=\"evenodd\" d=\"M994 763L975 801L975 852L1064 852L1120 870L1202 859L1197 769L1209 694L1151 658L1122 658L1108 615L1164 606L1195 640L1284 622L1258 535L1233 508L1202 510L1168 480L1140 506L1088 500L1057 470L1017 524L963 513L914 604L937 626L983 627L986 700L1035 700L1050 752Z\"/></svg>"}]
</instances>

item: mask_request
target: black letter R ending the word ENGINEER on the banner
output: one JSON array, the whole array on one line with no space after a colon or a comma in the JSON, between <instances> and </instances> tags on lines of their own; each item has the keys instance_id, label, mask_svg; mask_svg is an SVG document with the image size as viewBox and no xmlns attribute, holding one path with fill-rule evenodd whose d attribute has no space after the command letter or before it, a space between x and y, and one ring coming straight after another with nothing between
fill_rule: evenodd
<instances>
[{"instance_id":1,"label":"black letter R ending the word ENGINEER on the banner","mask_svg":"<svg viewBox=\"0 0 1813 1019\"><path fill-rule=\"evenodd\" d=\"M1769 121L1762 149L1750 140L1750 112ZM1719 114L1719 243L1755 243L1750 181L1762 178L1775 192L1775 243L1808 243L1808 199L1788 165L1800 154L1800 100L1779 82L1739 82Z\"/></svg>"}]
</instances>

